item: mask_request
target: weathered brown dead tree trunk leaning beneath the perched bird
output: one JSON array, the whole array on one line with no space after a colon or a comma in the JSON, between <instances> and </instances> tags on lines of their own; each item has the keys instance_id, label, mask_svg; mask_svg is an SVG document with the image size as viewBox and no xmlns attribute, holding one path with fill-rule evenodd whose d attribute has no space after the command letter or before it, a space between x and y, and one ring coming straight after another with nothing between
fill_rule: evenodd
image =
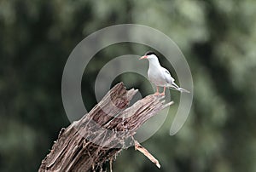
<instances>
[{"instance_id":1,"label":"weathered brown dead tree trunk leaning beneath the perched bird","mask_svg":"<svg viewBox=\"0 0 256 172\"><path fill-rule=\"evenodd\" d=\"M158 167L158 161L132 136L148 118L170 106L162 96L148 95L127 107L137 90L126 90L123 83L108 94L83 118L61 129L58 139L44 158L38 172L96 171L112 161L124 148L132 146L143 152Z\"/></svg>"}]
</instances>

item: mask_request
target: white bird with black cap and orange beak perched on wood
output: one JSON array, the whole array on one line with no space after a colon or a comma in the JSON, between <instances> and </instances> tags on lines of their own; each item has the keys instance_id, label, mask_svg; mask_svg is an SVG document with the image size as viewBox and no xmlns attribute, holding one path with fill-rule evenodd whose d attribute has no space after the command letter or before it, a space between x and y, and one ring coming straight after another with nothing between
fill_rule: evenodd
<instances>
[{"instance_id":1,"label":"white bird with black cap and orange beak perched on wood","mask_svg":"<svg viewBox=\"0 0 256 172\"><path fill-rule=\"evenodd\" d=\"M160 66L160 62L154 52L148 51L140 58L140 60L142 59L148 59L149 61L148 80L156 86L156 93L154 95L165 95L166 88L189 93L188 90L180 88L174 83L174 78L166 68ZM161 94L159 93L158 87L164 88L164 91Z\"/></svg>"}]
</instances>

